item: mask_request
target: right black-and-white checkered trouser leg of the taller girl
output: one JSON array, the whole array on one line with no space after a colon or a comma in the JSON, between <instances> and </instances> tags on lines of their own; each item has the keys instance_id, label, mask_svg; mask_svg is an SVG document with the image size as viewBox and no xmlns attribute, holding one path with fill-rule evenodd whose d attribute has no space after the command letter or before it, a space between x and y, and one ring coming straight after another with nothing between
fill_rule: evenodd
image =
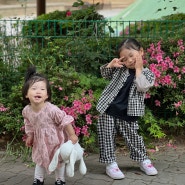
<instances>
[{"instance_id":1,"label":"right black-and-white checkered trouser leg of the taller girl","mask_svg":"<svg viewBox=\"0 0 185 185\"><path fill-rule=\"evenodd\" d=\"M138 123L117 121L120 133L125 138L126 144L130 150L130 158L135 161L144 161L148 158L143 137L138 134Z\"/></svg>"}]
</instances>

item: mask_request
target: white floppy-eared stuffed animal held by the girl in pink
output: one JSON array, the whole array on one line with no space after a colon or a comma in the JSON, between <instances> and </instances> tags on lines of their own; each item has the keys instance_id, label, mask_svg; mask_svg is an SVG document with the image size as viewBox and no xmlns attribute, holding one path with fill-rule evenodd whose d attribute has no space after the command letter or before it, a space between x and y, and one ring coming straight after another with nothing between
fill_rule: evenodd
<instances>
[{"instance_id":1,"label":"white floppy-eared stuffed animal held by the girl in pink","mask_svg":"<svg viewBox=\"0 0 185 185\"><path fill-rule=\"evenodd\" d=\"M68 177L74 176L74 166L76 161L80 161L79 171L82 175L85 175L87 168L83 159L83 154L84 149L80 146L80 144L73 144L72 141L69 140L62 144L55 152L48 170L53 172L57 168L59 155L61 155L63 162L66 163L66 174Z\"/></svg>"}]
</instances>

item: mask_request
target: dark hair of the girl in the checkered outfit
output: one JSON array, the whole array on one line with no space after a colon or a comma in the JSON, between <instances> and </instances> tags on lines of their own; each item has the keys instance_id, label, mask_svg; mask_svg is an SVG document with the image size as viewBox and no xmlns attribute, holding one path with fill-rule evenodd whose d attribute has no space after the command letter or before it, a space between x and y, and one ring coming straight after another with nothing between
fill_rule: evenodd
<instances>
[{"instance_id":1,"label":"dark hair of the girl in the checkered outfit","mask_svg":"<svg viewBox=\"0 0 185 185\"><path fill-rule=\"evenodd\" d=\"M118 56L120 57L120 52L122 51L122 49L134 49L134 50L137 50L139 51L142 46L141 44L134 38L128 38L126 40L123 40L119 47L118 47Z\"/></svg>"}]
</instances>

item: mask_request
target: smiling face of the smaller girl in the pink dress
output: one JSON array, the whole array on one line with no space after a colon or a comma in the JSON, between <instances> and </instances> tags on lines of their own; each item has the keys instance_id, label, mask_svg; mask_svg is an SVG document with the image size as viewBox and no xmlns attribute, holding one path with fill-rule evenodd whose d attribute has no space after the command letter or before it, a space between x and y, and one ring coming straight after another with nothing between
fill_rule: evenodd
<instances>
[{"instance_id":1,"label":"smiling face of the smaller girl in the pink dress","mask_svg":"<svg viewBox=\"0 0 185 185\"><path fill-rule=\"evenodd\" d=\"M44 104L48 98L46 82L38 81L31 85L28 89L26 98L30 100L31 104Z\"/></svg>"}]
</instances>

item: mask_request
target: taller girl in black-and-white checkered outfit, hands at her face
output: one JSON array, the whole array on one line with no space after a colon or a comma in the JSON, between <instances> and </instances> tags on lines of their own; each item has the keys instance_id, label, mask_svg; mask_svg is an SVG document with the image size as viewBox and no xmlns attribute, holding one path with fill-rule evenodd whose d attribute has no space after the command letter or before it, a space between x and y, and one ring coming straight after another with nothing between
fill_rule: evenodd
<instances>
[{"instance_id":1,"label":"taller girl in black-and-white checkered outfit, hands at her face","mask_svg":"<svg viewBox=\"0 0 185 185\"><path fill-rule=\"evenodd\" d=\"M153 86L154 74L143 67L143 48L129 38L118 49L119 58L101 66L101 74L110 83L102 92L97 110L97 124L101 163L106 163L106 173L113 179L125 176L119 169L115 156L115 136L119 132L125 139L130 158L140 163L147 175L158 172L147 156L143 138L138 134L138 117L144 115L145 93Z\"/></svg>"}]
</instances>

